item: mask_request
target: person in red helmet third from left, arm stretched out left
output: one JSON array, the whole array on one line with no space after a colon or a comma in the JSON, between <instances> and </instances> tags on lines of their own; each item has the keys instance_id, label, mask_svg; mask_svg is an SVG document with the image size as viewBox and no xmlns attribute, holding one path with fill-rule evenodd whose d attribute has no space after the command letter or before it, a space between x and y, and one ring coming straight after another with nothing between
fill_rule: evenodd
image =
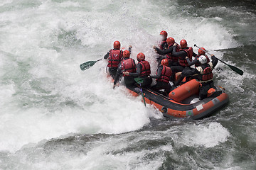
<instances>
[{"instance_id":1,"label":"person in red helmet third from left, arm stretched out left","mask_svg":"<svg viewBox=\"0 0 256 170\"><path fill-rule=\"evenodd\" d=\"M124 75L140 77L144 79L141 86L150 86L150 84L152 83L151 77L148 77L151 73L150 64L145 60L145 55L142 52L139 52L139 54L137 55L137 60L138 60L138 64L136 67L136 72L135 73L124 72Z\"/></svg>"}]
</instances>

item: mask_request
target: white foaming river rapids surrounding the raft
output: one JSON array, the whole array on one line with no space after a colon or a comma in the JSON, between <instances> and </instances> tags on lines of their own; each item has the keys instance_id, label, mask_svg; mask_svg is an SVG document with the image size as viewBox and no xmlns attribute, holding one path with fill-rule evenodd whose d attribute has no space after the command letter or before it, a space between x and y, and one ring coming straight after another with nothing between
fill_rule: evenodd
<instances>
[{"instance_id":1,"label":"white foaming river rapids surrounding the raft","mask_svg":"<svg viewBox=\"0 0 256 170\"><path fill-rule=\"evenodd\" d=\"M0 169L256 169L254 0L2 0L0 21ZM214 71L228 106L171 121L106 61L80 71L119 40L155 72L161 30L244 71Z\"/></svg>"}]
</instances>

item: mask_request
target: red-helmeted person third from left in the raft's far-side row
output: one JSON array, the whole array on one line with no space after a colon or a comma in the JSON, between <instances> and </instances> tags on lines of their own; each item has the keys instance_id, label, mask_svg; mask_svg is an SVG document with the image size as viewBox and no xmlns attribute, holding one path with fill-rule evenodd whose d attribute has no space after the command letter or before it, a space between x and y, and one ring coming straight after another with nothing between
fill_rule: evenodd
<instances>
[{"instance_id":1,"label":"red-helmeted person third from left in the raft's far-side row","mask_svg":"<svg viewBox=\"0 0 256 170\"><path fill-rule=\"evenodd\" d=\"M186 40L181 40L180 42L181 49L177 52L177 43L174 43L174 48L172 55L175 57L178 57L178 66L172 66L171 67L171 79L174 80L174 76L176 72L182 72L183 69L190 69L188 62L186 61L186 57L188 57L189 60L192 60L192 56L196 57L196 53L193 52L192 47L188 47L188 44Z\"/></svg>"}]
</instances>

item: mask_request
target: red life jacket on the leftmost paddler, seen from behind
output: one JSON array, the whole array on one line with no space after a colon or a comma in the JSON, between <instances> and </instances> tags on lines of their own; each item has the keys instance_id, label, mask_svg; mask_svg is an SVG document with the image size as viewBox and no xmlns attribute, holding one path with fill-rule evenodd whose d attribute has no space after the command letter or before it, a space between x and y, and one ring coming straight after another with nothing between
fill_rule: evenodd
<instances>
[{"instance_id":1,"label":"red life jacket on the leftmost paddler, seen from behind","mask_svg":"<svg viewBox=\"0 0 256 170\"><path fill-rule=\"evenodd\" d=\"M122 50L110 50L107 67L117 68L122 60Z\"/></svg>"}]
</instances>

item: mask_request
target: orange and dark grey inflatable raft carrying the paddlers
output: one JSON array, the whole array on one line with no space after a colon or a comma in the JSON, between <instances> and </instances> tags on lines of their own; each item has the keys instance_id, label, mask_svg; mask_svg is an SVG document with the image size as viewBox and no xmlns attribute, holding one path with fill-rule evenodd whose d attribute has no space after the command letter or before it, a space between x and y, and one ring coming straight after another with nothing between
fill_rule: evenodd
<instances>
[{"instance_id":1,"label":"orange and dark grey inflatable raft carrying the paddlers","mask_svg":"<svg viewBox=\"0 0 256 170\"><path fill-rule=\"evenodd\" d=\"M156 106L167 118L191 118L201 119L212 115L215 111L228 103L228 94L224 89L214 86L208 91L208 97L203 100L198 99L200 83L196 79L178 86L169 93L169 97L164 96L151 89L142 88L146 103ZM134 90L129 90L136 95Z\"/></svg>"}]
</instances>

